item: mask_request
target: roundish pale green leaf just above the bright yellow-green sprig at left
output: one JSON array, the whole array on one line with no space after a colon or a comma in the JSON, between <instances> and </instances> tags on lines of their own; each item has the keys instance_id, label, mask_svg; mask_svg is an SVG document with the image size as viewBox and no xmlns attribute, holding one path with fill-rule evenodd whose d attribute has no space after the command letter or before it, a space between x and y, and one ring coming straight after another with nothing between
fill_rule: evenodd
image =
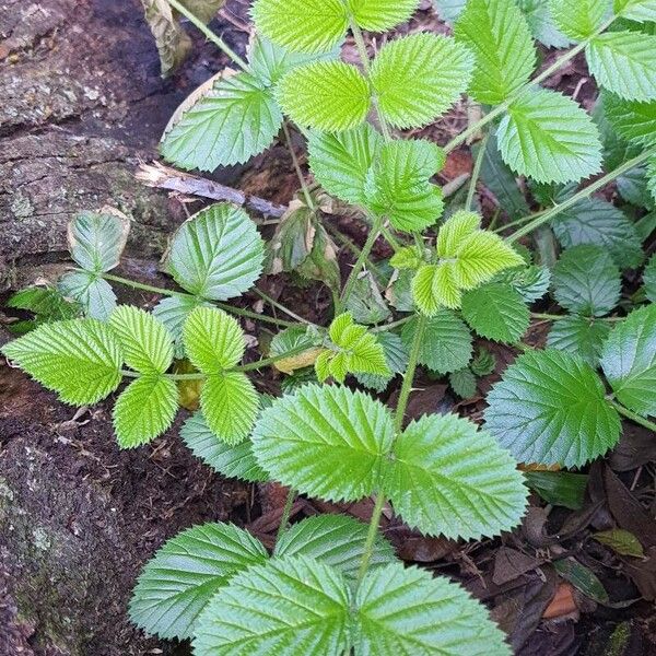
<instances>
[{"instance_id":1,"label":"roundish pale green leaf just above the bright yellow-green sprig at left","mask_svg":"<svg viewBox=\"0 0 656 656\"><path fill-rule=\"evenodd\" d=\"M213 301L241 296L262 270L263 242L248 214L215 203L194 214L173 237L167 267L188 292Z\"/></svg>"}]
</instances>

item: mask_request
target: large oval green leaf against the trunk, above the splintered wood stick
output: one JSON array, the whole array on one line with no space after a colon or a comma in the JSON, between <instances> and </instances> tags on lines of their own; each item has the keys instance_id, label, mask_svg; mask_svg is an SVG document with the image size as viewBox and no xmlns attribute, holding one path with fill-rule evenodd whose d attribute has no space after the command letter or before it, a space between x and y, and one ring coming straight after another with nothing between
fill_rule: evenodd
<instances>
[{"instance_id":1,"label":"large oval green leaf against the trunk, above the splintered wood stick","mask_svg":"<svg viewBox=\"0 0 656 656\"><path fill-rule=\"evenodd\" d=\"M282 125L270 89L249 73L222 75L164 132L162 155L179 168L214 171L266 150Z\"/></svg>"}]
</instances>

